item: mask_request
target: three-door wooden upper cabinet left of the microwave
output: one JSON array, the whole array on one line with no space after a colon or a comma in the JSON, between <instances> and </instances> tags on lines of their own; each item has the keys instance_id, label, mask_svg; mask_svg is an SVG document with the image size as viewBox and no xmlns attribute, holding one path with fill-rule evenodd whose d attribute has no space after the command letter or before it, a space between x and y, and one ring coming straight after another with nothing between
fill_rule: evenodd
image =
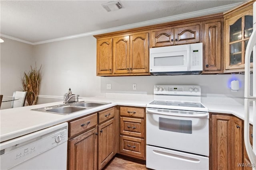
<instances>
[{"instance_id":1,"label":"three-door wooden upper cabinet left of the microwave","mask_svg":"<svg viewBox=\"0 0 256 170\"><path fill-rule=\"evenodd\" d=\"M148 32L97 40L97 76L149 75Z\"/></svg>"}]
</instances>

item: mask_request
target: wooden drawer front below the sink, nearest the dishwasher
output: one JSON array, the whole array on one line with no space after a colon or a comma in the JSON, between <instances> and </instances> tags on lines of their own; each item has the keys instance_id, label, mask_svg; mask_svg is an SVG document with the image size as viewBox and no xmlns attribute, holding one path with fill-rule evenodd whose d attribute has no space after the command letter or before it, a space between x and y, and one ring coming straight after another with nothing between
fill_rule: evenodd
<instances>
[{"instance_id":1,"label":"wooden drawer front below the sink, nearest the dishwasher","mask_svg":"<svg viewBox=\"0 0 256 170\"><path fill-rule=\"evenodd\" d=\"M83 117L81 119L71 121L69 125L69 128L70 128L69 137L72 137L82 131L86 131L90 127L97 125L97 122L98 122L97 113Z\"/></svg>"}]
</instances>

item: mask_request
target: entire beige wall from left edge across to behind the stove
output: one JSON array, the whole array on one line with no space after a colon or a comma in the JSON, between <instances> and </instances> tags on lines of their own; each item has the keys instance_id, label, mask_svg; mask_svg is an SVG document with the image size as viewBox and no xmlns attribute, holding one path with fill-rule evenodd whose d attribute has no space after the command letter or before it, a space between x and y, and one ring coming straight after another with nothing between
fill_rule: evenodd
<instances>
[{"instance_id":1,"label":"entire beige wall from left edge across to behind the stove","mask_svg":"<svg viewBox=\"0 0 256 170\"><path fill-rule=\"evenodd\" d=\"M4 39L1 43L1 93L11 96L20 90L20 75L31 64L42 64L40 95L62 96L68 88L82 97L104 96L106 92L152 94L155 84L200 85L204 96L244 96L244 75L182 75L182 76L96 76L96 39L93 36L68 39L41 45L27 45ZM238 92L231 92L231 79L241 82ZM106 84L112 84L106 90ZM137 84L137 90L132 90ZM61 100L61 99L58 99ZM38 103L58 101L39 98Z\"/></svg>"}]
</instances>

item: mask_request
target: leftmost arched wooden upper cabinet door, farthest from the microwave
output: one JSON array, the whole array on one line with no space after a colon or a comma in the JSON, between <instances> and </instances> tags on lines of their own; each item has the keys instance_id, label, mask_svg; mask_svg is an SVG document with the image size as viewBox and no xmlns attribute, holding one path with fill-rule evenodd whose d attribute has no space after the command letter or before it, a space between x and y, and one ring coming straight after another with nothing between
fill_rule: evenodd
<instances>
[{"instance_id":1,"label":"leftmost arched wooden upper cabinet door, farthest from the microwave","mask_svg":"<svg viewBox=\"0 0 256 170\"><path fill-rule=\"evenodd\" d=\"M112 74L112 38L97 41L97 75Z\"/></svg>"}]
</instances>

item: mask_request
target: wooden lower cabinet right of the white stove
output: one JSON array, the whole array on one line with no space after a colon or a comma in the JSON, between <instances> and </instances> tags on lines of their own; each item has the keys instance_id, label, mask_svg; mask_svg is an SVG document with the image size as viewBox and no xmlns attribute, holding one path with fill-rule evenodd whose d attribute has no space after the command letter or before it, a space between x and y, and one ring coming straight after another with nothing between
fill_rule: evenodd
<instances>
[{"instance_id":1,"label":"wooden lower cabinet right of the white stove","mask_svg":"<svg viewBox=\"0 0 256 170\"><path fill-rule=\"evenodd\" d=\"M210 170L252 169L247 167L243 124L234 115L210 113Z\"/></svg>"}]
</instances>

